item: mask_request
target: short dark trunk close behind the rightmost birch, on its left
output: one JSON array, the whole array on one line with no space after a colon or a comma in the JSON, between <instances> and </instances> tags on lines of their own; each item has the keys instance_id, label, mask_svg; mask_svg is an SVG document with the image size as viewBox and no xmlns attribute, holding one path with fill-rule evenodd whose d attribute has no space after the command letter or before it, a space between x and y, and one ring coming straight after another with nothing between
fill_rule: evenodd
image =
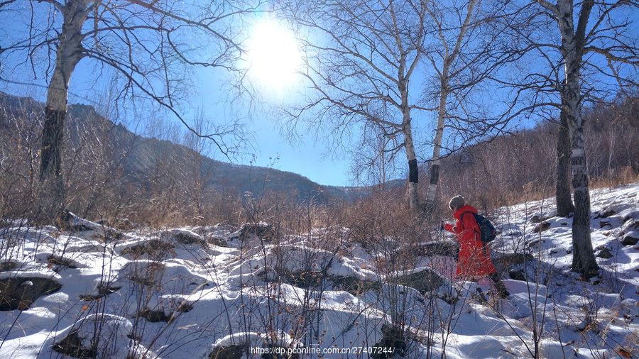
<instances>
[{"instance_id":1,"label":"short dark trunk close behind the rightmost birch, on its left","mask_svg":"<svg viewBox=\"0 0 639 359\"><path fill-rule=\"evenodd\" d=\"M564 106L566 106L564 104ZM555 199L557 202L557 216L567 217L574 212L570 195L570 136L568 133L568 118L564 109L561 111L559 133L557 133L557 180Z\"/></svg>"}]
</instances>

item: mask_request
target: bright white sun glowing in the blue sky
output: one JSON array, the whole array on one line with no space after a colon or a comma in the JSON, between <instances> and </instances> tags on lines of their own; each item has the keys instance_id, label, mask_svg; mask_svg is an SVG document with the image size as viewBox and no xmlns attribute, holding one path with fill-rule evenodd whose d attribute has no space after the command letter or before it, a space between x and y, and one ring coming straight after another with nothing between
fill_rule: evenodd
<instances>
[{"instance_id":1,"label":"bright white sun glowing in the blue sky","mask_svg":"<svg viewBox=\"0 0 639 359\"><path fill-rule=\"evenodd\" d=\"M282 91L295 82L302 62L293 31L277 21L266 20L253 27L246 52L249 74L264 87Z\"/></svg>"}]
</instances>

